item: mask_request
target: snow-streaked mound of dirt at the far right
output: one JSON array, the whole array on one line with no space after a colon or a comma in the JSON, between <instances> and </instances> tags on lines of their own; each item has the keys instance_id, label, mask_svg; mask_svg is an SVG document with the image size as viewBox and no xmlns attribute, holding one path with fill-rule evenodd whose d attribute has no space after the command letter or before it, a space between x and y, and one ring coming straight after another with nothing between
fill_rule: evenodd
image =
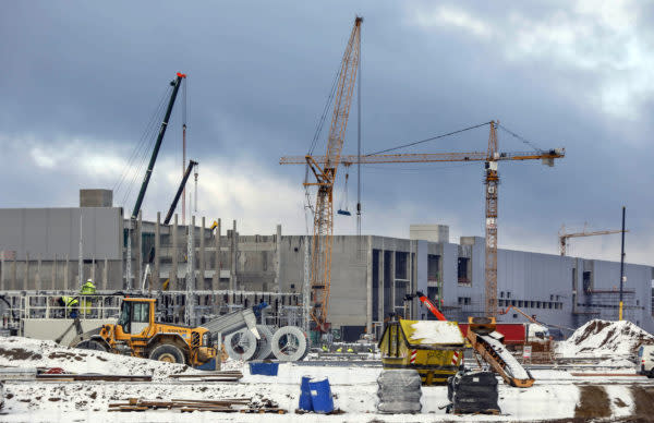
<instances>
[{"instance_id":1,"label":"snow-streaked mound of dirt at the far right","mask_svg":"<svg viewBox=\"0 0 654 423\"><path fill-rule=\"evenodd\" d=\"M654 336L628 321L591 321L559 342L562 356L631 356L643 343L654 343Z\"/></svg>"}]
</instances>

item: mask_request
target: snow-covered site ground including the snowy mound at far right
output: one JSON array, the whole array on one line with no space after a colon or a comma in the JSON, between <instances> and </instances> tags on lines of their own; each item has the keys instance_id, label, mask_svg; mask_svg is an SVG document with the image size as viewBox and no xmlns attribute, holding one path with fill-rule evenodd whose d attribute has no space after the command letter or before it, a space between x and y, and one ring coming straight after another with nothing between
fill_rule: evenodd
<instances>
[{"instance_id":1,"label":"snow-covered site ground including the snowy mound at far right","mask_svg":"<svg viewBox=\"0 0 654 423\"><path fill-rule=\"evenodd\" d=\"M651 421L654 416L654 379L635 374L631 361L640 342L654 341L632 324L593 321L557 345L552 364L526 364L535 378L531 388L513 388L499 380L500 415L446 414L447 387L423 386L419 414L382 414L376 411L378 354L310 354L304 361L280 363L277 376L251 375L247 363L228 361L223 371L240 371L238 382L192 379L203 371L100 351L61 347L52 341L2 338L2 367L61 367L69 373L152 376L152 382L62 382L34 377L7 380L2 422L258 422L258 413L180 409L113 412L110 404L130 398L146 401L246 399L252 404L274 403L270 421L305 422L433 422L433 421ZM475 368L472 358L465 360ZM238 373L238 372L237 372ZM328 377L338 414L295 413L302 376ZM193 376L194 377L194 376ZM189 401L186 401L189 402ZM241 401L243 402L243 401ZM247 402L247 401L245 401ZM235 407L237 408L237 407ZM252 409L253 407L250 407Z\"/></svg>"}]
</instances>

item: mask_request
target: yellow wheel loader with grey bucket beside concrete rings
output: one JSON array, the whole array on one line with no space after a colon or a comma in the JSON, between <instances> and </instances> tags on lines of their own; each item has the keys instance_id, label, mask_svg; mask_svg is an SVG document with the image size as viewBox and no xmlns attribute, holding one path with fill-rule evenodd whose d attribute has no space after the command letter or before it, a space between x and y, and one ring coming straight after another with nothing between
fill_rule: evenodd
<instances>
[{"instance_id":1,"label":"yellow wheel loader with grey bucket beside concrete rings","mask_svg":"<svg viewBox=\"0 0 654 423\"><path fill-rule=\"evenodd\" d=\"M198 366L216 358L213 338L219 334L247 327L259 338L251 309L226 314L203 326L187 327L155 322L156 301L123 299L116 324L80 334L70 346Z\"/></svg>"}]
</instances>

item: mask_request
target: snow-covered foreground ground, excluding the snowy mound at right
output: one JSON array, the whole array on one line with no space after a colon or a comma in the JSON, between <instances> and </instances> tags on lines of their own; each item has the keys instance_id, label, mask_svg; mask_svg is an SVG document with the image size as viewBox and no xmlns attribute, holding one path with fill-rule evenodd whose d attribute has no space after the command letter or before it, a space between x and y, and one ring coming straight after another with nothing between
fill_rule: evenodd
<instances>
[{"instance_id":1,"label":"snow-covered foreground ground, excluding the snowy mound at right","mask_svg":"<svg viewBox=\"0 0 654 423\"><path fill-rule=\"evenodd\" d=\"M82 370L102 374L152 374L153 382L50 382L8 380L5 407L1 421L5 422L197 422L238 421L255 422L259 414L216 413L179 410L148 410L142 412L110 412L109 404L128 398L146 400L220 398L252 398L255 402L271 400L287 414L266 414L270 421L319 422L432 422L432 421L545 421L560 419L653 415L654 379L637 376L633 367L620 365L589 367L570 365L565 370L533 370L536 383L526 389L499 385L501 415L452 415L441 407L448 403L445 386L423 387L422 412L413 415L379 414L376 410L377 376L380 366L371 366L367 360L351 365L329 363L282 363L277 376L251 375L247 363L230 361L223 368L241 370L239 382L202 382L171 378L170 375L202 374L199 371L169 363L113 355L95 351L69 350L47 341L17 339L14 347L3 348L1 365L58 365L66 371ZM43 345L41 345L43 343ZM35 355L35 348L43 351ZM16 354L16 350L20 354ZM8 353L13 351L13 355ZM85 354L82 356L82 354ZM131 363L131 365L125 365ZM574 376L579 373L628 374L632 376ZM300 379L304 375L327 376L331 384L335 406L342 414L298 414Z\"/></svg>"}]
</instances>

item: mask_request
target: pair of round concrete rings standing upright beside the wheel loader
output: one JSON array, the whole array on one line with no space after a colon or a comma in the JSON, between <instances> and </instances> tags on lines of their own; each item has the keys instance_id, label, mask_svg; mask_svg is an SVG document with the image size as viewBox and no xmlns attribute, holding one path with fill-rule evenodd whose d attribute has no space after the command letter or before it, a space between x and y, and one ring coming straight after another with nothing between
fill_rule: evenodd
<instances>
[{"instance_id":1,"label":"pair of round concrete rings standing upright beside the wheel loader","mask_svg":"<svg viewBox=\"0 0 654 423\"><path fill-rule=\"evenodd\" d=\"M261 336L258 340L245 328L225 338L225 350L231 359L299 361L308 353L308 337L298 326L283 326L277 330L265 325L256 325L256 328Z\"/></svg>"}]
</instances>

